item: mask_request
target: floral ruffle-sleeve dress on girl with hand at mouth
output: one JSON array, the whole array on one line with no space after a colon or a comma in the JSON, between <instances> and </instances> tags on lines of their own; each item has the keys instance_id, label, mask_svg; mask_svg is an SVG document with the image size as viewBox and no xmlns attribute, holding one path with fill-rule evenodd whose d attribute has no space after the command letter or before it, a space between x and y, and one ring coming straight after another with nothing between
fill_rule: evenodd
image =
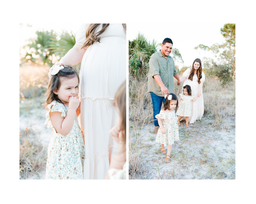
<instances>
[{"instance_id":1,"label":"floral ruffle-sleeve dress on girl with hand at mouth","mask_svg":"<svg viewBox=\"0 0 256 204\"><path fill-rule=\"evenodd\" d=\"M52 106L52 108L51 108ZM63 136L56 133L51 122L50 112L61 112L65 118L68 107L57 101L47 105L49 111L46 113L48 128L52 128L52 136L48 146L48 158L46 163L45 179L83 179L84 142L81 128L78 125L77 114L70 133Z\"/></svg>"}]
</instances>

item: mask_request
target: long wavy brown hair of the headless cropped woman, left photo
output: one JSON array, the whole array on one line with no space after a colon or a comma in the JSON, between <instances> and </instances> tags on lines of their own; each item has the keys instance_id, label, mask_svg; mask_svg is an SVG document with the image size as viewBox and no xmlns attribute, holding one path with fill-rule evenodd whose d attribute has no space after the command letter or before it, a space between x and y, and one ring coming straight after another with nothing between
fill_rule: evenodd
<instances>
[{"instance_id":1,"label":"long wavy brown hair of the headless cropped woman, left photo","mask_svg":"<svg viewBox=\"0 0 256 204\"><path fill-rule=\"evenodd\" d=\"M100 24L101 23L90 23L90 25L88 25L86 32L85 32L86 41L84 42L81 49L82 48L86 49L86 47L93 45L93 43L100 42L99 35L104 33L104 31L108 28L109 23L102 23L102 29L100 31L98 31L97 33L95 33ZM123 28L124 28L124 33L126 35L126 23L122 23L122 24L123 24Z\"/></svg>"}]
</instances>

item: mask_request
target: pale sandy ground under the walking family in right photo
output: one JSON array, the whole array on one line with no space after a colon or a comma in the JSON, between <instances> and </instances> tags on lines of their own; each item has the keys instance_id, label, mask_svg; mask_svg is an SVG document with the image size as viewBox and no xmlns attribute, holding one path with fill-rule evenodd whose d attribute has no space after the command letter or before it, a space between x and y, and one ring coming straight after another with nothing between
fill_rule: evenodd
<instances>
[{"instance_id":1,"label":"pale sandy ground under the walking family in right photo","mask_svg":"<svg viewBox=\"0 0 256 204\"><path fill-rule=\"evenodd\" d=\"M142 136L133 148L141 149L141 156L144 153L146 171L135 179L236 179L236 118L229 118L228 130L212 127L212 122L212 118L203 117L189 128L184 124L179 127L180 140L173 145L170 163L165 163L166 155L155 143L154 124L137 128Z\"/></svg>"}]
</instances>

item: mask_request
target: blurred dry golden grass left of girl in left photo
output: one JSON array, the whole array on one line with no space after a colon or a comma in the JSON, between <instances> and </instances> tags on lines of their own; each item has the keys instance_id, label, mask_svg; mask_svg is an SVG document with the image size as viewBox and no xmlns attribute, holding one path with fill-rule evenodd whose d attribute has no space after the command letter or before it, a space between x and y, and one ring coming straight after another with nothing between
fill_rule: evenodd
<instances>
[{"instance_id":1,"label":"blurred dry golden grass left of girl in left photo","mask_svg":"<svg viewBox=\"0 0 256 204\"><path fill-rule=\"evenodd\" d=\"M45 97L40 97L47 87L49 67L24 66L19 68L19 115L36 114L42 109ZM31 111L34 111L31 113ZM45 167L47 150L42 145L34 127L19 131L19 173L23 178L39 173Z\"/></svg>"}]
</instances>

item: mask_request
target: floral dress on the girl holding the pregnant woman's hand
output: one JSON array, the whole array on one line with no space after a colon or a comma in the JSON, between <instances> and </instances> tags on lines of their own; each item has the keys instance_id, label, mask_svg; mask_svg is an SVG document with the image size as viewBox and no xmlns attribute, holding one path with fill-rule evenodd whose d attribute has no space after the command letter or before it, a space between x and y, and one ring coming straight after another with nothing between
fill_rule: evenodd
<instances>
[{"instance_id":1,"label":"floral dress on the girl holding the pregnant woman's hand","mask_svg":"<svg viewBox=\"0 0 256 204\"><path fill-rule=\"evenodd\" d=\"M194 99L194 95L185 96L183 94L179 94L182 98L180 101L179 108L176 112L177 116L190 117L192 112L191 100Z\"/></svg>"}]
</instances>

